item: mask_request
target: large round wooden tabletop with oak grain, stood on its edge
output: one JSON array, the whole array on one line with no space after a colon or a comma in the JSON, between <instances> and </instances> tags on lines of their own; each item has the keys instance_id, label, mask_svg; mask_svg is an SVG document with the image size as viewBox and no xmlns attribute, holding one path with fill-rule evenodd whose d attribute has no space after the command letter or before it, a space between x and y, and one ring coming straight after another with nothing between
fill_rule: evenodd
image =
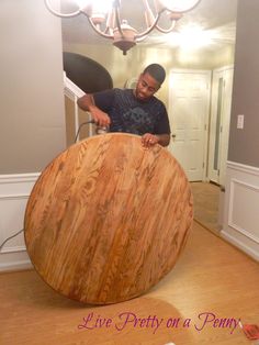
<instances>
[{"instance_id":1,"label":"large round wooden tabletop with oak grain, stood on its edge","mask_svg":"<svg viewBox=\"0 0 259 345\"><path fill-rule=\"evenodd\" d=\"M192 218L189 182L168 151L109 133L72 145L46 167L27 202L25 243L56 291L115 303L172 269Z\"/></svg>"}]
</instances>

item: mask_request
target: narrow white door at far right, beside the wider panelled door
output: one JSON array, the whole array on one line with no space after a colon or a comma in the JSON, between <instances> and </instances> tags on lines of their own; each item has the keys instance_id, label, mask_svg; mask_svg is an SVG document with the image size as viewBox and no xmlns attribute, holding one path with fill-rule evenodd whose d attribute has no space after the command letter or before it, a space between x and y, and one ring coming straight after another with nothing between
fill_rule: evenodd
<instances>
[{"instance_id":1,"label":"narrow white door at far right, beside the wider panelled door","mask_svg":"<svg viewBox=\"0 0 259 345\"><path fill-rule=\"evenodd\" d=\"M209 179L224 185L233 88L233 66L213 71L210 122Z\"/></svg>"}]
</instances>

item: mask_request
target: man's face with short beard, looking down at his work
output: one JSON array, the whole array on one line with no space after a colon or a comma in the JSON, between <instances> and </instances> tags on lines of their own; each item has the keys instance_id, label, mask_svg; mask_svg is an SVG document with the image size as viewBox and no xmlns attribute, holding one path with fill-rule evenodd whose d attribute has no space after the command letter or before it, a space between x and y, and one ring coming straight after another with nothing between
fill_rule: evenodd
<instances>
[{"instance_id":1,"label":"man's face with short beard, looking down at his work","mask_svg":"<svg viewBox=\"0 0 259 345\"><path fill-rule=\"evenodd\" d=\"M159 82L148 73L142 74L138 78L135 96L140 101L148 100L160 88Z\"/></svg>"}]
</instances>

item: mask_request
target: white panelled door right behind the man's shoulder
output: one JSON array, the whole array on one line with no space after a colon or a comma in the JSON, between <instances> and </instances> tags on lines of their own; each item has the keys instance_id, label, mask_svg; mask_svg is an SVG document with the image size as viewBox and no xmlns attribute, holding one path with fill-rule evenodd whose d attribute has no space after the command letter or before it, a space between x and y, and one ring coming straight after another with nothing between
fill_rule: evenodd
<instances>
[{"instance_id":1,"label":"white panelled door right behind the man's shoulder","mask_svg":"<svg viewBox=\"0 0 259 345\"><path fill-rule=\"evenodd\" d=\"M205 179L211 71L172 69L169 119L172 155L190 181Z\"/></svg>"}]
</instances>

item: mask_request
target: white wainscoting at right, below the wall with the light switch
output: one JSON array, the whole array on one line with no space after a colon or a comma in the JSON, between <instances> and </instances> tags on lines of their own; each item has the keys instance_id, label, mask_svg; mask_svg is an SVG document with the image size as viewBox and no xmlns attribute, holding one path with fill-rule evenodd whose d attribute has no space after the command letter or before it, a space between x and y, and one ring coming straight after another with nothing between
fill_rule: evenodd
<instances>
[{"instance_id":1,"label":"white wainscoting at right, below the wall with the light switch","mask_svg":"<svg viewBox=\"0 0 259 345\"><path fill-rule=\"evenodd\" d=\"M259 168L227 162L221 234L259 261Z\"/></svg>"}]
</instances>

